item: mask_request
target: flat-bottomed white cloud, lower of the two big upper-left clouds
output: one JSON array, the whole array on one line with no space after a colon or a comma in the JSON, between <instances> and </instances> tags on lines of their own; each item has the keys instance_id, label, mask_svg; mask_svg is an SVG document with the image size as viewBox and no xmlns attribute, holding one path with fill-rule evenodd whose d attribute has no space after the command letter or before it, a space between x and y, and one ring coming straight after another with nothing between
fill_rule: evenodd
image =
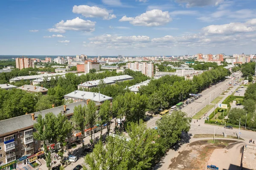
<instances>
[{"instance_id":1,"label":"flat-bottomed white cloud, lower of the two big upper-left clouds","mask_svg":"<svg viewBox=\"0 0 256 170\"><path fill-rule=\"evenodd\" d=\"M49 32L59 32L64 33L67 30L71 31L84 31L92 32L95 30L95 23L90 20L82 20L79 17L74 18L73 20L61 20L61 22L55 24L55 28L49 28Z\"/></svg>"}]
</instances>

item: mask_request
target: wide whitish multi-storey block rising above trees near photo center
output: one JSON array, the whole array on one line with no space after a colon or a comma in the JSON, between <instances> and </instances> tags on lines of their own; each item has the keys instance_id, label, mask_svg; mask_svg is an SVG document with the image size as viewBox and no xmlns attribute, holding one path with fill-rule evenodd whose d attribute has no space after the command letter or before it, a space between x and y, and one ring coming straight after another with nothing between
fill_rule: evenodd
<instances>
[{"instance_id":1,"label":"wide whitish multi-storey block rising above trees near photo center","mask_svg":"<svg viewBox=\"0 0 256 170\"><path fill-rule=\"evenodd\" d=\"M154 76L154 64L152 62L128 62L126 68L141 71L142 74L148 77Z\"/></svg>"}]
</instances>

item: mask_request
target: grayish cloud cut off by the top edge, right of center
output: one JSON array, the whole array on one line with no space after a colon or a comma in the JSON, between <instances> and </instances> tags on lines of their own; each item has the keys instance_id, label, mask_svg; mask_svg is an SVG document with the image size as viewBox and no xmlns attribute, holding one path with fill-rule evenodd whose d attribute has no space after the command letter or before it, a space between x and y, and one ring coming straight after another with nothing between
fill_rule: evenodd
<instances>
[{"instance_id":1,"label":"grayish cloud cut off by the top edge, right of center","mask_svg":"<svg viewBox=\"0 0 256 170\"><path fill-rule=\"evenodd\" d=\"M177 3L186 3L186 7L194 6L218 6L220 3L223 3L224 0L175 0Z\"/></svg>"}]
</instances>

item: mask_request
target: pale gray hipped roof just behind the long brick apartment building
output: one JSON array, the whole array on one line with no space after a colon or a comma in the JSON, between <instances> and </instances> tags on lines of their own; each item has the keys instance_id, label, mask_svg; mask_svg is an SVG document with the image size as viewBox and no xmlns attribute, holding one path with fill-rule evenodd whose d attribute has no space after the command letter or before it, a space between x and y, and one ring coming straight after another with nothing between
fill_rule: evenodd
<instances>
[{"instance_id":1,"label":"pale gray hipped roof just behind the long brick apartment building","mask_svg":"<svg viewBox=\"0 0 256 170\"><path fill-rule=\"evenodd\" d=\"M64 97L70 97L74 99L83 99L83 100L93 100L94 102L103 102L105 100L111 100L113 99L110 96L105 96L100 93L93 93L93 92L88 92L88 91L73 91L70 94L66 94Z\"/></svg>"}]
</instances>

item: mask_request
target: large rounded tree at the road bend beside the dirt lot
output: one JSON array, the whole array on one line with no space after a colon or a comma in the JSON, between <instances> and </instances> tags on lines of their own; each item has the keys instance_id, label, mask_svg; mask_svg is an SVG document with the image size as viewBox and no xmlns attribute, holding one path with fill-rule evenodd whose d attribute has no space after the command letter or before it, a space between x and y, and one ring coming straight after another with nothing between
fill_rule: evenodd
<instances>
[{"instance_id":1,"label":"large rounded tree at the road bend beside the dirt lot","mask_svg":"<svg viewBox=\"0 0 256 170\"><path fill-rule=\"evenodd\" d=\"M168 150L172 144L180 140L182 132L188 132L191 118L185 112L174 111L172 115L163 116L162 120L157 120L157 131L160 135L160 143L164 150Z\"/></svg>"}]
</instances>

